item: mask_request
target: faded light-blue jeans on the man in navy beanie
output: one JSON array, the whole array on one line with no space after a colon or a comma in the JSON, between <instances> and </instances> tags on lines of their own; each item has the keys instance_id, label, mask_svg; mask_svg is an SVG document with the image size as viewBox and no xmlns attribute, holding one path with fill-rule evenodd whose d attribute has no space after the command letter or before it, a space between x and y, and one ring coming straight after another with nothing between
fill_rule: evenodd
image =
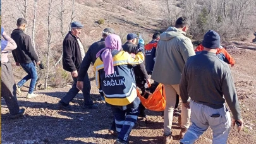
<instances>
[{"instance_id":1,"label":"faded light-blue jeans on the man in navy beanie","mask_svg":"<svg viewBox=\"0 0 256 144\"><path fill-rule=\"evenodd\" d=\"M231 126L231 117L226 106L221 109L212 109L204 104L190 102L192 125L186 131L181 143L194 143L209 126L212 129L212 143L227 143ZM218 114L219 116L216 116ZM215 115L215 116L213 116Z\"/></svg>"}]
</instances>

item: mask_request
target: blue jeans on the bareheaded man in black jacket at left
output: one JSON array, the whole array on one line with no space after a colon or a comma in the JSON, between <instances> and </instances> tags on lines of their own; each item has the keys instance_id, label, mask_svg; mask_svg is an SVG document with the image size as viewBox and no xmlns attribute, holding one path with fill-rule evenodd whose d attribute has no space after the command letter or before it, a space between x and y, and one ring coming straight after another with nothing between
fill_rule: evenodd
<instances>
[{"instance_id":1,"label":"blue jeans on the bareheaded man in black jacket at left","mask_svg":"<svg viewBox=\"0 0 256 144\"><path fill-rule=\"evenodd\" d=\"M24 83L31 79L28 90L28 93L31 94L34 91L35 83L37 82L37 69L35 69L35 64L33 62L28 64L21 63L20 66L26 71L28 75L22 78L22 80L20 80L17 85L18 87L22 87Z\"/></svg>"}]
</instances>

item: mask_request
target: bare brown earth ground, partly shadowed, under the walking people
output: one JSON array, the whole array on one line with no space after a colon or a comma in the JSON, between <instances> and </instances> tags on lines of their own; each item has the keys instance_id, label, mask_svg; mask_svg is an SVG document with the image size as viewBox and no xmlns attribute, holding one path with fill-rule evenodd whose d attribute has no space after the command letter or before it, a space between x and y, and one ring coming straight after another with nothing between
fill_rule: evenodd
<instances>
[{"instance_id":1,"label":"bare brown earth ground, partly shadowed, under the walking people","mask_svg":"<svg viewBox=\"0 0 256 144\"><path fill-rule=\"evenodd\" d=\"M245 128L240 133L236 128L231 128L228 143L256 143L256 51L236 47L228 51L236 60L231 71L245 121ZM91 83L92 98L99 104L99 109L82 109L83 97L80 93L71 102L72 111L59 110L58 100L70 86L38 90L39 97L36 99L25 99L28 88L23 87L23 95L18 96L18 101L20 107L26 111L25 116L18 119L9 118L8 109L2 99L2 143L113 143L116 138L107 133L112 121L111 110L99 97L93 78ZM180 112L180 109L176 112ZM139 118L131 131L131 143L162 143L161 112L147 111L147 114L148 121ZM179 140L180 128L177 123L178 117L175 116L173 143L178 143ZM211 139L212 131L208 129L196 143L212 143Z\"/></svg>"}]
</instances>

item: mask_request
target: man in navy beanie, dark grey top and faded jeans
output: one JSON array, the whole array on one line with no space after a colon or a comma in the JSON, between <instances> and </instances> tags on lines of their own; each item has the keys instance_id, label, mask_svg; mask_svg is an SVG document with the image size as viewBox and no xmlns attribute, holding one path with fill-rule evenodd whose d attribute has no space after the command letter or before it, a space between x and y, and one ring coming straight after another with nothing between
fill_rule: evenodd
<instances>
[{"instance_id":1,"label":"man in navy beanie, dark grey top and faded jeans","mask_svg":"<svg viewBox=\"0 0 256 144\"><path fill-rule=\"evenodd\" d=\"M190 57L182 73L180 96L183 104L192 109L192 125L180 142L194 143L210 127L212 143L227 143L231 118L225 101L234 117L233 126L236 121L240 124L238 130L243 128L235 85L228 64L216 56L219 34L209 30L202 45L204 51Z\"/></svg>"}]
</instances>

